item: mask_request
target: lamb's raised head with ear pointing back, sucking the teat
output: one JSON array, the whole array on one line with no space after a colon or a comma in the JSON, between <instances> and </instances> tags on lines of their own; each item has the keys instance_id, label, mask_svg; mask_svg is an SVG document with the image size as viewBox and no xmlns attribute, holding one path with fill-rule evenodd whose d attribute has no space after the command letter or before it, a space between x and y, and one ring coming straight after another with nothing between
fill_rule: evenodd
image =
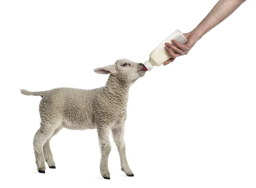
<instances>
[{"instance_id":1,"label":"lamb's raised head with ear pointing back, sucking the teat","mask_svg":"<svg viewBox=\"0 0 256 188\"><path fill-rule=\"evenodd\" d=\"M121 83L132 84L145 75L142 63L134 63L128 59L116 60L113 65L94 69L99 74L111 74Z\"/></svg>"}]
</instances>

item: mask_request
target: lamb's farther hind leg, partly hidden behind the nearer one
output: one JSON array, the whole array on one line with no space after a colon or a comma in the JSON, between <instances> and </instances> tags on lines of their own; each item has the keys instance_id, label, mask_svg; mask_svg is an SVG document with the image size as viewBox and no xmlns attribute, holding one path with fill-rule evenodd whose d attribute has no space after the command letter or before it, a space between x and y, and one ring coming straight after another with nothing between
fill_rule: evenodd
<instances>
[{"instance_id":1,"label":"lamb's farther hind leg, partly hidden behind the nearer one","mask_svg":"<svg viewBox=\"0 0 256 188\"><path fill-rule=\"evenodd\" d=\"M52 151L51 151L51 148L50 148L50 140L52 139L52 137L54 135L58 134L58 132L61 131L62 128L63 128L62 126L58 127L54 131L52 136L45 142L44 147L43 147L44 158L45 158L45 161L47 162L49 168L56 168L55 167L55 162L54 162L53 156L52 156Z\"/></svg>"}]
</instances>

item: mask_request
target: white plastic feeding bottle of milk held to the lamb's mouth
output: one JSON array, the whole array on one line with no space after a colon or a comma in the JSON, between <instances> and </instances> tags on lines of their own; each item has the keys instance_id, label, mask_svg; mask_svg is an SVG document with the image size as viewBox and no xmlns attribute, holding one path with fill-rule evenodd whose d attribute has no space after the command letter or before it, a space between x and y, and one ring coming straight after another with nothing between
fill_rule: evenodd
<instances>
[{"instance_id":1,"label":"white plastic feeding bottle of milk held to the lamb's mouth","mask_svg":"<svg viewBox=\"0 0 256 188\"><path fill-rule=\"evenodd\" d=\"M180 30L176 30L151 52L151 54L149 55L149 60L143 64L148 69L148 71L151 71L153 69L153 66L160 66L171 58L171 55L166 52L164 47L165 43L173 44L171 42L171 40L173 39L180 44L185 44L187 42L182 32L180 32Z\"/></svg>"}]
</instances>

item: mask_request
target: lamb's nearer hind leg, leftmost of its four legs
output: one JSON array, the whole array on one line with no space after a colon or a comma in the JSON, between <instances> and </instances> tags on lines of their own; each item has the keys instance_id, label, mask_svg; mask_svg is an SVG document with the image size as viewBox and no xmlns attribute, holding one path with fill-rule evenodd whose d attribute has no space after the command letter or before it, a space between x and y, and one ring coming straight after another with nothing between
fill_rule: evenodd
<instances>
[{"instance_id":1,"label":"lamb's nearer hind leg, leftmost of its four legs","mask_svg":"<svg viewBox=\"0 0 256 188\"><path fill-rule=\"evenodd\" d=\"M45 164L44 164L44 153L43 146L44 143L49 139L56 128L60 124L44 124L41 122L41 127L35 133L33 140L34 152L35 152L35 163L37 165L38 172L45 173Z\"/></svg>"}]
</instances>

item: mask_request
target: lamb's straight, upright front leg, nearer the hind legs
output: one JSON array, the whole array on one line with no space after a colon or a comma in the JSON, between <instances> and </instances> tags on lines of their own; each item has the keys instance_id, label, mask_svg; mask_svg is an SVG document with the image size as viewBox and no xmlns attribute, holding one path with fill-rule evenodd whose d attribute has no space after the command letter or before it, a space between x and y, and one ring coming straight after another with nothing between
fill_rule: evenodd
<instances>
[{"instance_id":1,"label":"lamb's straight, upright front leg, nearer the hind legs","mask_svg":"<svg viewBox=\"0 0 256 188\"><path fill-rule=\"evenodd\" d=\"M99 146L101 149L100 160L100 173L104 179L110 179L110 173L108 170L108 156L111 151L111 144L109 142L109 128L98 126Z\"/></svg>"}]
</instances>

